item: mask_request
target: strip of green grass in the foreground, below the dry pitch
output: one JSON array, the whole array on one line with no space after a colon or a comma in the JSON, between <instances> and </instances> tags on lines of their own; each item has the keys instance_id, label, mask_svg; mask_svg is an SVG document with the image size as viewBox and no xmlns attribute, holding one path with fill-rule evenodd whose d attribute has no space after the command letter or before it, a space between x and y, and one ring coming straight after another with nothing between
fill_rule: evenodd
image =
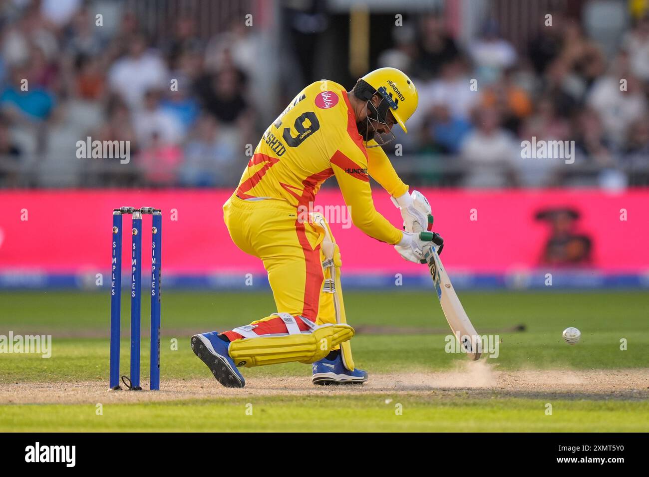
<instances>
[{"instance_id":1,"label":"strip of green grass in the foreground, below the dry pitch","mask_svg":"<svg viewBox=\"0 0 649 477\"><path fill-rule=\"evenodd\" d=\"M389 397L388 397L389 396ZM400 404L401 407L397 408ZM649 402L362 395L0 407L0 430L39 432L646 432ZM397 413L400 409L400 413Z\"/></svg>"}]
</instances>

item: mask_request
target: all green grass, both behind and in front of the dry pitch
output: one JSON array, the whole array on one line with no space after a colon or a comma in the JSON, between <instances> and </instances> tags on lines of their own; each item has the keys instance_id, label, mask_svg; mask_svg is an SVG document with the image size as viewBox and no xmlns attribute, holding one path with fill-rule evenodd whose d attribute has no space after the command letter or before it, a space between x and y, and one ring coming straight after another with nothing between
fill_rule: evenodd
<instances>
[{"instance_id":1,"label":"all green grass, both behind and in front of the dry pitch","mask_svg":"<svg viewBox=\"0 0 649 477\"><path fill-rule=\"evenodd\" d=\"M649 368L649 293L459 293L481 334L498 334L498 369ZM0 293L0 335L51 334L52 357L0 354L0 386L97 382L107 387L109 298L75 292ZM129 300L123 299L121 363L129 363ZM345 293L347 316L361 332L354 337L356 365L372 375L453 369L463 354L444 352L446 321L426 292ZM191 293L167 291L162 305L162 387L165 380L205 378L191 352L196 332L226 330L274 310L269 292ZM143 300L143 337L148 335L148 302ZM524 324L525 331L513 326ZM363 334L363 326L398 328ZM582 330L582 341L561 339L567 326ZM620 350L620 339L628 349ZM173 350L173 344L178 349ZM142 376L148 374L148 339L142 340ZM244 369L249 377L304 376L299 363ZM649 384L647 384L649 386ZM339 388L338 388L339 389ZM245 391L245 389L244 389ZM106 391L108 392L108 391ZM90 404L0 404L0 432L23 430L310 430L310 431L630 431L649 430L649 402L598 397L555 397L546 416L545 397L497 392L363 392L327 396L262 395L182 401L106 404L95 415ZM386 404L387 403L387 404ZM402 404L402 415L395 404ZM252 415L246 415L252 404Z\"/></svg>"}]
</instances>

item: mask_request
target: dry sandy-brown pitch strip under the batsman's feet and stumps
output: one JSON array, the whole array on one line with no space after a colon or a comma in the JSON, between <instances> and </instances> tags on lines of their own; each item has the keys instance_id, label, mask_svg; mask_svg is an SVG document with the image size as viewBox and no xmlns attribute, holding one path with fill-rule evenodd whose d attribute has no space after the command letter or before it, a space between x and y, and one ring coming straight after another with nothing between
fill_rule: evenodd
<instances>
[{"instance_id":1,"label":"dry sandy-brown pitch strip under the batsman's feet and stumps","mask_svg":"<svg viewBox=\"0 0 649 477\"><path fill-rule=\"evenodd\" d=\"M143 381L146 389L148 383ZM308 376L252 377L243 389L226 388L213 378L165 380L159 392L110 391L100 382L9 383L0 387L0 404L91 404L162 402L219 397L330 396L385 394L489 395L589 400L649 399L649 369L592 371L498 371L485 361L458 364L454 371L370 376L363 385L315 386Z\"/></svg>"}]
</instances>

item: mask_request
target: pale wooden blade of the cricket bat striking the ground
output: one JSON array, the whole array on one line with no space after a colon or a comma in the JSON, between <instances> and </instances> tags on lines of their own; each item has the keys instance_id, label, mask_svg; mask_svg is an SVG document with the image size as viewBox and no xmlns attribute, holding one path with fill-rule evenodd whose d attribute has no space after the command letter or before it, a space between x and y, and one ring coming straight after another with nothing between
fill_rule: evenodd
<instances>
[{"instance_id":1,"label":"pale wooden blade of the cricket bat striking the ground","mask_svg":"<svg viewBox=\"0 0 649 477\"><path fill-rule=\"evenodd\" d=\"M478 332L476 332L462 304L459 302L450 278L448 278L442 262L439 260L439 255L431 247L424 258L428 263L428 270L433 279L437 298L450 329L458 339L461 347L467 352L469 358L478 360L482 353L482 339L478 336Z\"/></svg>"}]
</instances>

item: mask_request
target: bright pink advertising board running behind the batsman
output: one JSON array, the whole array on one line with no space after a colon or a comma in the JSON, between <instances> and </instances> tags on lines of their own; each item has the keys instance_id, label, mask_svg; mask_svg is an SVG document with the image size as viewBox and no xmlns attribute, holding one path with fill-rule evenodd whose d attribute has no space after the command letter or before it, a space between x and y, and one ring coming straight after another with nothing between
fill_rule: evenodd
<instances>
[{"instance_id":1,"label":"bright pink advertising board running behind the batsman","mask_svg":"<svg viewBox=\"0 0 649 477\"><path fill-rule=\"evenodd\" d=\"M572 234L587 237L582 262L606 273L649 269L649 191L460 191L422 190L445 238L443 261L449 271L508 273L542 265L552 236L542 210L569 208ZM0 273L80 273L108 269L112 209L156 206L164 211L165 273L263 273L262 264L230 241L221 206L226 190L0 191ZM395 226L400 215L389 197L374 192L374 205ZM343 273L424 274L386 243L365 236L349 222L338 190L322 190L315 206L326 206L341 248ZM327 209L324 210L327 212ZM572 214L572 212L570 212ZM130 219L125 218L125 225ZM150 217L145 217L147 226ZM143 234L150 247L151 234ZM130 243L125 234L125 249ZM150 249L149 249L150 250ZM127 253L125 269L128 267Z\"/></svg>"}]
</instances>

